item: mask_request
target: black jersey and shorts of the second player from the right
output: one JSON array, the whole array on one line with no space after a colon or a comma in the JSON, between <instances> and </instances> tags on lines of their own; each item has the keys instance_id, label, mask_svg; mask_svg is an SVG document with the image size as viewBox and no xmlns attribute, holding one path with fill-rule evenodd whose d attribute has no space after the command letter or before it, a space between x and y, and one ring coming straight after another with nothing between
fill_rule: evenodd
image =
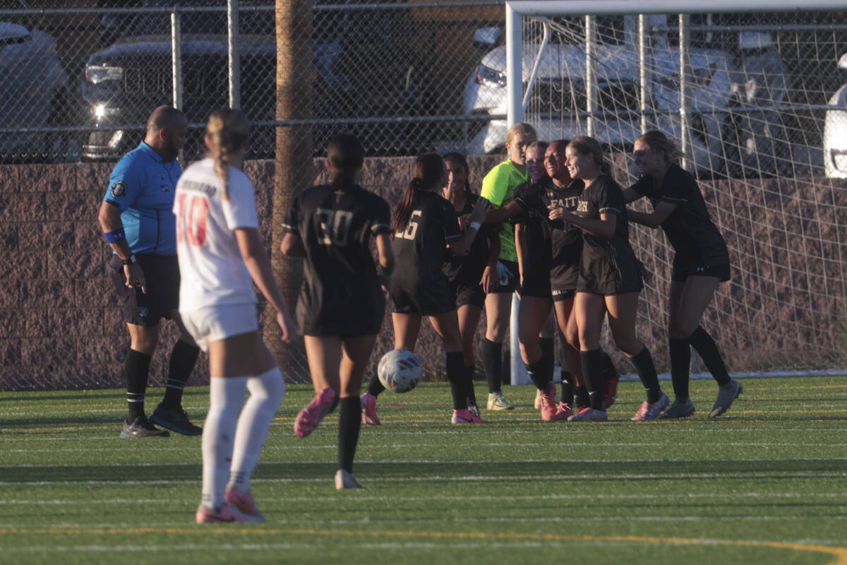
<instances>
[{"instance_id":1,"label":"black jersey and shorts of the second player from the right","mask_svg":"<svg viewBox=\"0 0 847 565\"><path fill-rule=\"evenodd\" d=\"M608 174L597 177L580 195L576 213L588 219L600 219L602 213L617 214L611 238L583 231L577 290L604 295L640 291L641 263L629 246L623 191L617 182Z\"/></svg>"}]
</instances>

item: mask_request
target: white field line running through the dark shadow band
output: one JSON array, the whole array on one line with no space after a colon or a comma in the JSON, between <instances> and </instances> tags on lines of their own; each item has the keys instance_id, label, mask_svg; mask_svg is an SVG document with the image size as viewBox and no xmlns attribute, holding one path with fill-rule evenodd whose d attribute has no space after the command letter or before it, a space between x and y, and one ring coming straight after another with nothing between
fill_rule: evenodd
<instances>
[{"instance_id":1,"label":"white field line running through the dark shadow band","mask_svg":"<svg viewBox=\"0 0 847 565\"><path fill-rule=\"evenodd\" d=\"M561 462L556 462L561 463ZM608 461L599 461L598 463L609 463ZM640 463L640 462L639 462ZM199 467L199 464L197 465ZM774 472L775 473L775 472ZM427 475L425 477L379 477L377 479L381 483L409 483L409 482L432 482L432 483L455 483L457 481L464 482L491 482L516 479L524 481L551 481L551 480L686 480L686 479L727 479L731 477L744 477L745 479L771 479L773 473L762 473L759 471L750 473L739 473L738 471L728 473L678 473L678 474L540 474L540 475L462 475L462 476L441 476ZM847 478L847 469L844 471L792 471L779 472L780 479L843 479ZM304 483L324 483L328 482L327 477L318 477L310 479L293 479L293 478L277 478L277 479L252 479L253 483L281 483L281 484L304 484ZM50 486L50 485L181 485L181 484L197 484L197 479L151 479L151 480L32 480L32 481L0 481L0 486Z\"/></svg>"}]
</instances>

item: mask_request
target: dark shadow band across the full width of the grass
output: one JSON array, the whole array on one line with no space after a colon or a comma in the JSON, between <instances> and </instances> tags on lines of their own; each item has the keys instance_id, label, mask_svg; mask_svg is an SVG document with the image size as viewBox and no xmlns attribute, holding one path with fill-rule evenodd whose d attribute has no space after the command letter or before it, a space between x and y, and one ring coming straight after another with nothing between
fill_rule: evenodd
<instances>
[{"instance_id":1,"label":"dark shadow band across the full width of the grass","mask_svg":"<svg viewBox=\"0 0 847 565\"><path fill-rule=\"evenodd\" d=\"M757 461L650 461L637 463L610 462L488 462L488 463L357 463L359 473L368 480L414 479L433 482L484 480L490 484L512 483L516 479L534 480L540 476L555 475L575 481L642 481L683 480L713 475L715 479L744 479L751 475L768 480L796 480L821 477L832 478L844 473L842 459L757 460ZM200 464L145 465L74 465L27 466L0 469L4 483L29 483L33 481L124 481L159 482L195 480L201 472ZM334 463L262 463L255 479L312 480L335 474Z\"/></svg>"}]
</instances>

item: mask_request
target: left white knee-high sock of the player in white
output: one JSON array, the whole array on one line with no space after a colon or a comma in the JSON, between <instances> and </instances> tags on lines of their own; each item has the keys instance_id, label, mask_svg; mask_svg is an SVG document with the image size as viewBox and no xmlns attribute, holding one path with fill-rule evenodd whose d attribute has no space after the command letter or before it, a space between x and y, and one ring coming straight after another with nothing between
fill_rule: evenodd
<instances>
[{"instance_id":1,"label":"left white knee-high sock of the player in white","mask_svg":"<svg viewBox=\"0 0 847 565\"><path fill-rule=\"evenodd\" d=\"M207 508L218 508L224 503L235 446L235 421L244 404L246 388L247 377L209 379L209 412L202 437L202 504Z\"/></svg>"}]
</instances>

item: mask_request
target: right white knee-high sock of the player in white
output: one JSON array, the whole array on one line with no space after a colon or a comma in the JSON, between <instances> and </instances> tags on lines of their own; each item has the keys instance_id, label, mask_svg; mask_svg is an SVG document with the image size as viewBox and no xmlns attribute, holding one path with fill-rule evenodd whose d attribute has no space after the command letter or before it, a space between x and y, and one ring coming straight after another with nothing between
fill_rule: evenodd
<instances>
[{"instance_id":1,"label":"right white knee-high sock of the player in white","mask_svg":"<svg viewBox=\"0 0 847 565\"><path fill-rule=\"evenodd\" d=\"M280 369L274 367L248 380L247 390L250 391L250 400L238 418L230 475L230 486L241 492L250 492L250 477L262 454L268 427L285 397L285 379Z\"/></svg>"}]
</instances>

